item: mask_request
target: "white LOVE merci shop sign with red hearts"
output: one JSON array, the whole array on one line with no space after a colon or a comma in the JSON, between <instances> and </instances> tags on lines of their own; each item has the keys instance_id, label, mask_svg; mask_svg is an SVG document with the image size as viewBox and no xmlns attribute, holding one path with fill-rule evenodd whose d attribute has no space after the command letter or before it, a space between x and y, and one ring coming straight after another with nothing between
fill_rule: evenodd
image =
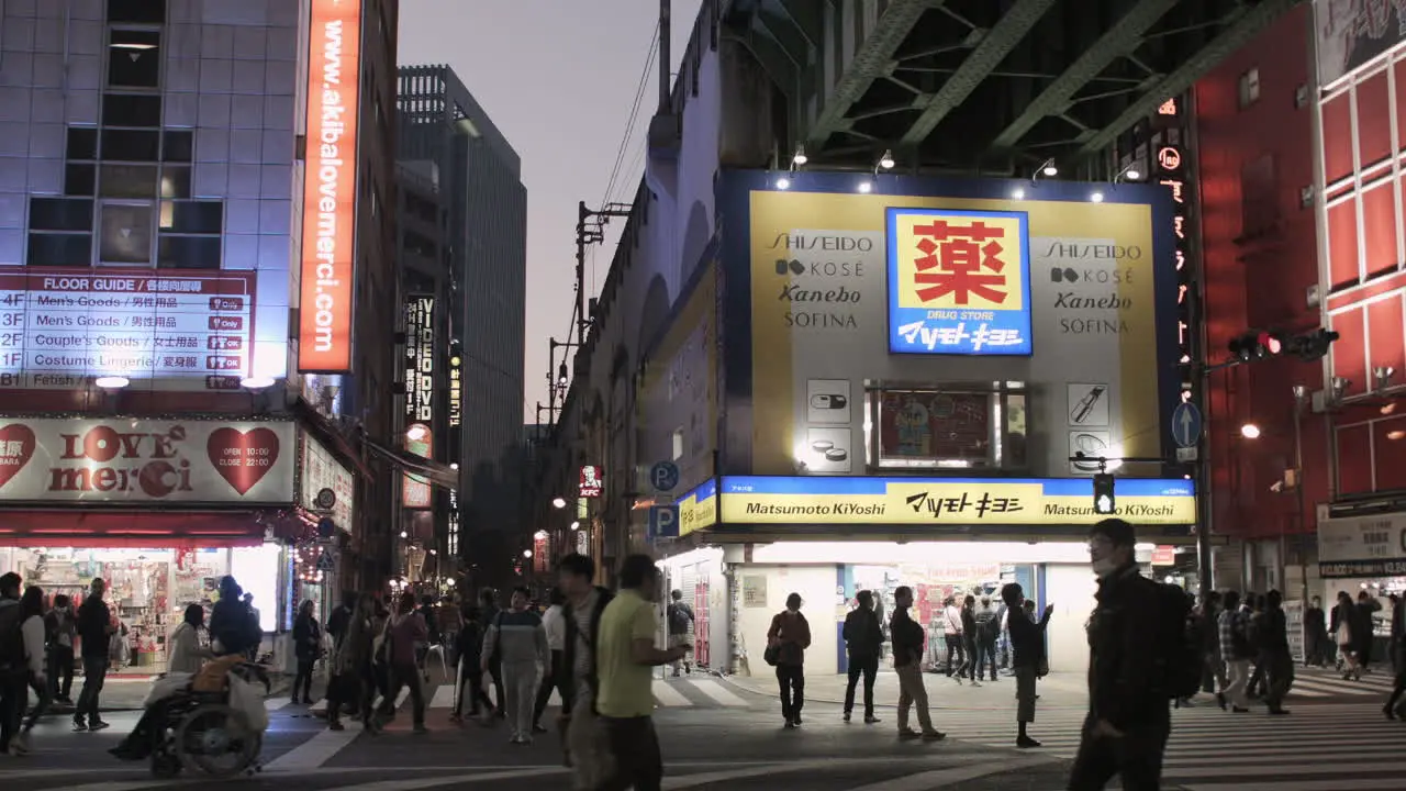
<instances>
[{"instance_id":1,"label":"white LOVE merci shop sign with red hearts","mask_svg":"<svg viewBox=\"0 0 1406 791\"><path fill-rule=\"evenodd\" d=\"M291 422L0 418L0 502L287 505Z\"/></svg>"}]
</instances>

